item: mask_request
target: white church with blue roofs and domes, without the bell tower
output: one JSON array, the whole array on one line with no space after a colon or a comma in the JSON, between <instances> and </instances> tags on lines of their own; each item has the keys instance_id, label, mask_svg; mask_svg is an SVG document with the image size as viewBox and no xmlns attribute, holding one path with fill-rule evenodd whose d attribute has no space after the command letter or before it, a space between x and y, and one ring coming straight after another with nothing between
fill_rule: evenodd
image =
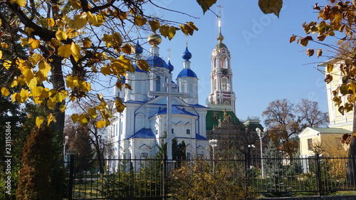
<instances>
[{"instance_id":1,"label":"white church with blue roofs and domes, without the bell tower","mask_svg":"<svg viewBox=\"0 0 356 200\"><path fill-rule=\"evenodd\" d=\"M113 158L153 157L157 152L164 133L167 132L167 95L150 95L152 92L167 92L164 83L172 80L174 67L159 58L159 43L162 39L156 33L148 38L150 43L150 72L136 67L135 73L128 73L125 79L132 90L114 88L114 98L121 98L126 108L122 113L114 112L108 137L112 142ZM136 58L141 58L142 47L137 42ZM187 145L187 158L206 155L206 111L208 107L199 105L198 78L191 69L192 54L188 48L182 58L183 68L177 76L172 93L187 93L186 97L172 96L172 130L168 134L183 140ZM133 63L135 65L135 63Z\"/></svg>"}]
</instances>

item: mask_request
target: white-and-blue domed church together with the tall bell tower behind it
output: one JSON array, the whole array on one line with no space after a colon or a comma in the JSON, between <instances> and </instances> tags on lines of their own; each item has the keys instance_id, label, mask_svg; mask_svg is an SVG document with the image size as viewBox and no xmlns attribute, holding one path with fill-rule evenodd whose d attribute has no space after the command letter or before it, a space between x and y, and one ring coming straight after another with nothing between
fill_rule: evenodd
<instances>
[{"instance_id":1,"label":"white-and-blue domed church together with the tall bell tower behind it","mask_svg":"<svg viewBox=\"0 0 356 200\"><path fill-rule=\"evenodd\" d=\"M211 93L208 105L204 106L199 105L199 79L192 70L194 65L191 68L189 59L192 53L188 47L182 54L182 70L174 82L174 67L169 60L166 63L159 57L161 36L153 33L148 37L151 47L150 57L146 61L150 65L150 72L136 67L135 73L128 73L122 79L131 85L132 90L114 87L113 98L121 98L126 108L122 113L113 112L111 125L108 126L112 158L154 157L165 133L170 139L176 137L179 144L184 140L187 159L209 157L209 151L206 150L209 147L207 124L217 124L216 113L222 113L223 110L235 115L231 56L222 43L224 36L221 30L217 40L219 42L211 55ZM135 60L141 59L142 51L137 41ZM132 64L135 66L135 63Z\"/></svg>"}]
</instances>

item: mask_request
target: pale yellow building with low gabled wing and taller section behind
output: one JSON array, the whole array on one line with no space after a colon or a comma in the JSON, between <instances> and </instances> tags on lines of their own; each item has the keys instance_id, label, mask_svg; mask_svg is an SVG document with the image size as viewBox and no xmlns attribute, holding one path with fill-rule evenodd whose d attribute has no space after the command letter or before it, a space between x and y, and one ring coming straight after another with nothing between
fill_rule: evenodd
<instances>
[{"instance_id":1,"label":"pale yellow building with low gabled wing and taller section behind","mask_svg":"<svg viewBox=\"0 0 356 200\"><path fill-rule=\"evenodd\" d=\"M317 68L325 69L325 76L333 76L330 83L326 83L326 90L328 95L328 110L330 124L327 127L306 127L298 135L300 138L300 157L310 157L314 155L313 145L318 145L325 149L328 154L347 154L342 148L340 140L345 133L352 133L353 111L345 112L342 115L335 102L333 102L333 91L342 84L342 74L340 65L336 65L333 70L328 73L328 64L334 60L328 60L317 66ZM344 101L343 101L344 102Z\"/></svg>"}]
</instances>

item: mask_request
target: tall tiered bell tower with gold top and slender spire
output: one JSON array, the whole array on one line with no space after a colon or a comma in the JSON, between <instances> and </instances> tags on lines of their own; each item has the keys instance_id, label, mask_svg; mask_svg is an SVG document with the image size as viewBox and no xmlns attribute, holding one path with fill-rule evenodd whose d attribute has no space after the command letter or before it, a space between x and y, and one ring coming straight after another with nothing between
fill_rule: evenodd
<instances>
[{"instance_id":1,"label":"tall tiered bell tower with gold top and slender spire","mask_svg":"<svg viewBox=\"0 0 356 200\"><path fill-rule=\"evenodd\" d=\"M207 102L207 106L211 110L235 110L235 93L232 84L232 70L231 70L231 55L227 46L222 43L224 36L221 34L221 9L219 8L219 34L217 40L219 41L211 54L211 93Z\"/></svg>"}]
</instances>

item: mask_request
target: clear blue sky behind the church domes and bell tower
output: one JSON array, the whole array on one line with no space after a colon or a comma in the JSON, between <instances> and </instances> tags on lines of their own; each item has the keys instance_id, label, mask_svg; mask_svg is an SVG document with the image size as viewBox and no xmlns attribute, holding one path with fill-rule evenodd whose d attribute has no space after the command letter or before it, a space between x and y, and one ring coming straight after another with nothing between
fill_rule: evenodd
<instances>
[{"instance_id":1,"label":"clear blue sky behind the church domes and bell tower","mask_svg":"<svg viewBox=\"0 0 356 200\"><path fill-rule=\"evenodd\" d=\"M216 45L218 34L217 19L211 11L203 12L194 0L153 1L158 6L181 11L192 16L177 14L155 6L146 6L147 13L163 16L164 19L185 23L193 21L199 28L188 37L188 48L192 53L191 68L199 78L199 102L206 105L210 93L211 52ZM222 1L211 7L217 13L216 5L223 6L221 32L224 43L231 53L231 68L234 73L233 87L236 94L236 115L241 120L248 116L261 117L269 102L287 98L298 103L302 98L319 102L320 109L328 111L325 90L325 75L315 69L315 65L328 60L328 57L308 58L305 47L289 43L290 36L305 36L302 24L316 21L315 2L320 6L326 1L290 0L283 4L279 19L273 14L265 15L258 8L258 1ZM147 37L141 35L142 37ZM146 41L142 39L140 43ZM168 60L170 48L173 77L183 68L182 53L186 38L181 31L169 41L163 38L159 54ZM330 41L333 43L333 41ZM146 43L142 47L149 49ZM310 48L320 48L311 44ZM310 64L312 63L312 64Z\"/></svg>"}]
</instances>

